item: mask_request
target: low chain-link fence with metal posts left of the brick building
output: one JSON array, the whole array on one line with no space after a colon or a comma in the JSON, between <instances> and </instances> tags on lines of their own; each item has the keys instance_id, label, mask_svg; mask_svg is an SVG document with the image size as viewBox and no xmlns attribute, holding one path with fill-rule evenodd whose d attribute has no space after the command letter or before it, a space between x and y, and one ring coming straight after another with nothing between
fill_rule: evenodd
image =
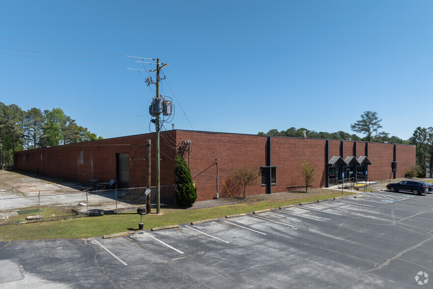
<instances>
[{"instance_id":1,"label":"low chain-link fence with metal posts left of the brick building","mask_svg":"<svg viewBox=\"0 0 433 289\"><path fill-rule=\"evenodd\" d=\"M151 187L156 203L156 187ZM127 188L0 199L0 225L54 221L134 211L146 206L147 188ZM175 185L161 186L161 195L173 195Z\"/></svg>"}]
</instances>

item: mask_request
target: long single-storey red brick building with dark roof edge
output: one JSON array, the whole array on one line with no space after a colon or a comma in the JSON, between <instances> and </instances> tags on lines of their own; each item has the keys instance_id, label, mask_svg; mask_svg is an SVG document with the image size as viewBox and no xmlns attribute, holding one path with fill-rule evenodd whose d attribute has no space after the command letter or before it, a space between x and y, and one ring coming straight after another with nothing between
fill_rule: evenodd
<instances>
[{"instance_id":1,"label":"long single-storey red brick building with dark roof edge","mask_svg":"<svg viewBox=\"0 0 433 289\"><path fill-rule=\"evenodd\" d=\"M156 134L112 138L15 152L16 170L88 183L114 179L121 187L146 184L147 140L151 140L152 186L155 185ZM241 165L261 170L262 179L247 195L282 192L301 186L303 161L316 166L315 187L343 178L379 180L403 177L415 165L414 145L269 137L170 130L161 133L161 185L174 184L174 157L181 154L191 169L197 201L226 196L223 182ZM162 191L162 200L172 201Z\"/></svg>"}]
</instances>

